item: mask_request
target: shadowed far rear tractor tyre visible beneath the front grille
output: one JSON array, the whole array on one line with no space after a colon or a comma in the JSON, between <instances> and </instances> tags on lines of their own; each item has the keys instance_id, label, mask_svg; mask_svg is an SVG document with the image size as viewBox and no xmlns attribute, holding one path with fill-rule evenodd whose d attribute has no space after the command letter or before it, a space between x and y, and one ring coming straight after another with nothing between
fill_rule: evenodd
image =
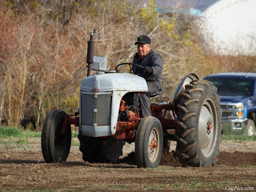
<instances>
[{"instance_id":1,"label":"shadowed far rear tractor tyre visible beneath the front grille","mask_svg":"<svg viewBox=\"0 0 256 192\"><path fill-rule=\"evenodd\" d=\"M119 157L123 155L123 140L100 140L96 137L84 136L78 133L82 158L89 163L119 163Z\"/></svg>"}]
</instances>

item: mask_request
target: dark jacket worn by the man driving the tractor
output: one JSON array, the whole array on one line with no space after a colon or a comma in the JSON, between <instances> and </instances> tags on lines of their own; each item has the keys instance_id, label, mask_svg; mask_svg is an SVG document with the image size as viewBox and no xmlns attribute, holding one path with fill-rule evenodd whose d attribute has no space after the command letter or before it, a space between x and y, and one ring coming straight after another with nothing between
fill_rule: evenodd
<instances>
[{"instance_id":1,"label":"dark jacket worn by the man driving the tractor","mask_svg":"<svg viewBox=\"0 0 256 192\"><path fill-rule=\"evenodd\" d=\"M132 63L141 65L142 67L149 66L153 68L152 74L143 73L144 69L138 66L132 66L133 73L146 79L146 81L160 81L163 73L163 59L161 55L154 52L152 49L148 52L143 60L139 60L138 52L134 55Z\"/></svg>"}]
</instances>

